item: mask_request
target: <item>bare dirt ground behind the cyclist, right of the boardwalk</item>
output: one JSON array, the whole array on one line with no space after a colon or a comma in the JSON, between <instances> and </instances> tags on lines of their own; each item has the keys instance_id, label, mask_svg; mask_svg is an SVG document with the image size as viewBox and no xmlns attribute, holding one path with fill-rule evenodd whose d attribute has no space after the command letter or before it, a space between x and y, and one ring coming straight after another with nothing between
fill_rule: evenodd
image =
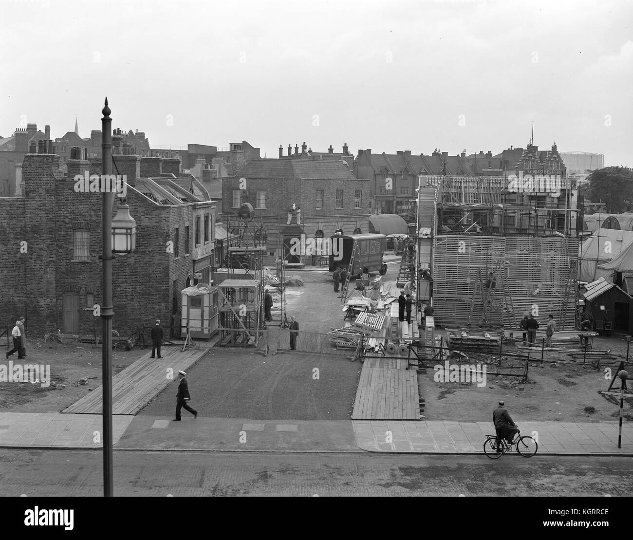
<instances>
[{"instance_id":1,"label":"bare dirt ground behind the cyclist, right of the boardwalk","mask_svg":"<svg viewBox=\"0 0 633 540\"><path fill-rule=\"evenodd\" d=\"M627 345L621 337L596 338L594 349L625 356ZM540 357L539 351L539 361L530 362L529 382L524 384L515 377L488 374L483 387L473 383L436 382L434 365L429 363L427 374L422 375L425 419L487 422L499 399L506 402L517 421L612 422L618 417L619 398L599 393L606 391L610 382L605 379L604 370L593 370L590 365L583 367L582 359L575 364L568 363L568 356L561 352L546 353L542 365ZM511 362L504 358L503 363ZM489 365L488 371L493 370L494 365ZM614 386L619 387L619 382ZM633 399L624 401L625 418L633 420Z\"/></svg>"}]
</instances>

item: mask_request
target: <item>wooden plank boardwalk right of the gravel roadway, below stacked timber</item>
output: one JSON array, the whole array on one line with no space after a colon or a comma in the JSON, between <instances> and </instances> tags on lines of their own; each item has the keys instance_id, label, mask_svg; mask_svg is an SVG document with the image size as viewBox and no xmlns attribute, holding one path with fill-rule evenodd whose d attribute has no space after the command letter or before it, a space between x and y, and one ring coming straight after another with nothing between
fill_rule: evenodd
<instances>
[{"instance_id":1,"label":"wooden plank boardwalk right of the gravel roadway, below stacked timber","mask_svg":"<svg viewBox=\"0 0 633 540\"><path fill-rule=\"evenodd\" d=\"M352 420L420 420L418 377L406 358L367 358Z\"/></svg>"}]
</instances>

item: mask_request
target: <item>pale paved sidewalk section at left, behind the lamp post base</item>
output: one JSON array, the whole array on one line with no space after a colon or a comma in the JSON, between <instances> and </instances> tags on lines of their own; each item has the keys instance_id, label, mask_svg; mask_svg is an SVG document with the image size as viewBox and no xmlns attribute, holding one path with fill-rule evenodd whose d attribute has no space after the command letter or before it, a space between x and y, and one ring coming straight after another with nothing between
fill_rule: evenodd
<instances>
[{"instance_id":1,"label":"pale paved sidewalk section at left, behind the lamp post base","mask_svg":"<svg viewBox=\"0 0 633 540\"><path fill-rule=\"evenodd\" d=\"M113 416L113 443L118 441L133 418ZM0 447L103 448L102 422L101 415L3 412L0 413Z\"/></svg>"}]
</instances>

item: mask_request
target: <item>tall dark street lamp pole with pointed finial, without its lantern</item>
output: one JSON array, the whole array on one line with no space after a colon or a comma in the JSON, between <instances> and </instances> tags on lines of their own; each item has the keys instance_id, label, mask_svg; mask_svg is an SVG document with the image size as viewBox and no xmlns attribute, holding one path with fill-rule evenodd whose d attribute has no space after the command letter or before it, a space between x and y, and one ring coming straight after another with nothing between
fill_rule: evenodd
<instances>
[{"instance_id":1,"label":"tall dark street lamp pole with pointed finial, without its lantern","mask_svg":"<svg viewBox=\"0 0 633 540\"><path fill-rule=\"evenodd\" d=\"M101 118L101 153L103 174L112 173L112 118L108 98L103 108ZM101 206L101 259L102 259L102 286L103 305L101 306L101 344L103 378L103 496L111 497L114 491L113 482L113 453L112 453L112 318L114 310L112 306L112 205L115 194L103 191Z\"/></svg>"}]
</instances>

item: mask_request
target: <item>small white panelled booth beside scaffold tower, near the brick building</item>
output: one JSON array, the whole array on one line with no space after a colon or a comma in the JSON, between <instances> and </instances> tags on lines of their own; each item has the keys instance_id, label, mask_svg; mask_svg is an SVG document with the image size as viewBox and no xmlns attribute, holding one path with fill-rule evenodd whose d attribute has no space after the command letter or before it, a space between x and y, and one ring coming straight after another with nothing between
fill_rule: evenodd
<instances>
[{"instance_id":1,"label":"small white panelled booth beside scaffold tower, near the brick building","mask_svg":"<svg viewBox=\"0 0 633 540\"><path fill-rule=\"evenodd\" d=\"M218 287L199 283L182 291L180 336L208 339L218 331Z\"/></svg>"}]
</instances>

